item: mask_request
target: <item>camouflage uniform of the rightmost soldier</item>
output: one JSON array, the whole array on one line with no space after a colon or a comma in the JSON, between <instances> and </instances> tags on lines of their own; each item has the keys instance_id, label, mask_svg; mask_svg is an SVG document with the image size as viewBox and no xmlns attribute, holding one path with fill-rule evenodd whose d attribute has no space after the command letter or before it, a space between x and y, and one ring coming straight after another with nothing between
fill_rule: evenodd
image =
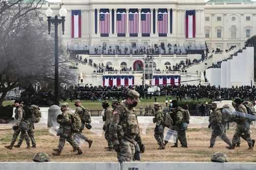
<instances>
[{"instance_id":1,"label":"camouflage uniform of the rightmost soldier","mask_svg":"<svg viewBox=\"0 0 256 170\"><path fill-rule=\"evenodd\" d=\"M238 116L236 118L235 122L237 123L236 131L234 132L233 139L232 139L232 145L235 146L237 143L240 142L240 137L243 136L243 138L246 139L248 142L249 147L253 147L253 143L250 137L250 120L245 118L247 114L246 107L243 104L240 104L236 111L240 112L240 114L245 114L244 116Z\"/></svg>"}]
</instances>

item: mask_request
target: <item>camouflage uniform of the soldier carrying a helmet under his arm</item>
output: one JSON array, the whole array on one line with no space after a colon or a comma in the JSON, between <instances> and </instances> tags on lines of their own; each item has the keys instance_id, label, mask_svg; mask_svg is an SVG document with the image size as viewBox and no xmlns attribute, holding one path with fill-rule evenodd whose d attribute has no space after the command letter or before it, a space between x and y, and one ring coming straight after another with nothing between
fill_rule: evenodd
<instances>
[{"instance_id":1,"label":"camouflage uniform of the soldier carrying a helmet under his arm","mask_svg":"<svg viewBox=\"0 0 256 170\"><path fill-rule=\"evenodd\" d=\"M63 110L63 112L61 113L62 118L57 119L57 123L60 124L59 128L63 128L63 133L60 134L60 137L59 137L59 145L58 145L59 152L63 150L66 140L72 145L74 150L77 150L79 148L78 144L75 142L73 137L73 132L71 129L72 120L71 120L70 114L71 113L68 109Z\"/></svg>"}]
</instances>

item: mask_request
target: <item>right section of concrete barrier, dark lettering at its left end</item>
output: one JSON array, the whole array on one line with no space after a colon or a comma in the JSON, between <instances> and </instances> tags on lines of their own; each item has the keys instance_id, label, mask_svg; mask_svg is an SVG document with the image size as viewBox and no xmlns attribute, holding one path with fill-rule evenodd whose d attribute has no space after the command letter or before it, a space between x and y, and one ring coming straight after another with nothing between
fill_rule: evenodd
<instances>
[{"instance_id":1,"label":"right section of concrete barrier, dark lettering at its left end","mask_svg":"<svg viewBox=\"0 0 256 170\"><path fill-rule=\"evenodd\" d=\"M122 163L121 170L252 170L256 163L214 162L130 162Z\"/></svg>"}]
</instances>

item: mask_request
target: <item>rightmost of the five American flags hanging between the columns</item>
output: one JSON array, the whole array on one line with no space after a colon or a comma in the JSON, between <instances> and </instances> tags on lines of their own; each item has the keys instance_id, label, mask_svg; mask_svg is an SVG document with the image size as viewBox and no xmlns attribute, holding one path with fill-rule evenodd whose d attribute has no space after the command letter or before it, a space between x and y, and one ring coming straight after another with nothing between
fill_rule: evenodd
<instances>
[{"instance_id":1,"label":"rightmost of the five American flags hanging between the columns","mask_svg":"<svg viewBox=\"0 0 256 170\"><path fill-rule=\"evenodd\" d=\"M166 8L158 9L158 36L166 37L167 36L167 24L168 24L168 13Z\"/></svg>"}]
</instances>

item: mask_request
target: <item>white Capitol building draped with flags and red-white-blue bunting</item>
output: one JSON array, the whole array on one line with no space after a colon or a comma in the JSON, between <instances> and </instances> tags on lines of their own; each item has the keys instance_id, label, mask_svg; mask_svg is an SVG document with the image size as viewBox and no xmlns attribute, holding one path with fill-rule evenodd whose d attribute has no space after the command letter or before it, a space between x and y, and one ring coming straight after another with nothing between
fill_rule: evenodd
<instances>
[{"instance_id":1,"label":"white Capitol building draped with flags and red-white-blue bunting","mask_svg":"<svg viewBox=\"0 0 256 170\"><path fill-rule=\"evenodd\" d=\"M79 85L207 84L205 70L237 54L256 32L250 0L62 3L68 15L59 39ZM54 14L61 8L49 5Z\"/></svg>"}]
</instances>

